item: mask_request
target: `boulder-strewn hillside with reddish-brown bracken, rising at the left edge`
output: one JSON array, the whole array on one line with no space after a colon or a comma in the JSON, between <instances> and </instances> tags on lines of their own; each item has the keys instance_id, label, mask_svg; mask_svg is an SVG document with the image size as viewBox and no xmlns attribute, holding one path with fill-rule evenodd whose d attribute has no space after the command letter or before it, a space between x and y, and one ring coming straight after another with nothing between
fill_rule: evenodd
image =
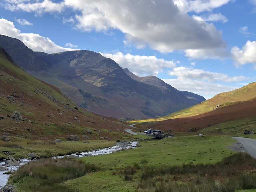
<instances>
[{"instance_id":1,"label":"boulder-strewn hillside with reddish-brown bracken, rising at the left edge","mask_svg":"<svg viewBox=\"0 0 256 192\"><path fill-rule=\"evenodd\" d=\"M3 48L0 85L1 134L30 139L67 138L76 134L99 139L120 138L124 129L129 128L116 119L77 108L58 88L16 65Z\"/></svg>"}]
</instances>

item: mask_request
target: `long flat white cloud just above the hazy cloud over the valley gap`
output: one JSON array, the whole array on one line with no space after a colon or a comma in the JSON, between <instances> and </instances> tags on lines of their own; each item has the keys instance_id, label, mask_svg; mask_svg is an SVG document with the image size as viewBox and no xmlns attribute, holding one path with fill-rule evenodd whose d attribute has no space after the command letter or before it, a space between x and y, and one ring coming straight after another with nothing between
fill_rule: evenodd
<instances>
[{"instance_id":1,"label":"long flat white cloud just above the hazy cloud over the valley gap","mask_svg":"<svg viewBox=\"0 0 256 192\"><path fill-rule=\"evenodd\" d=\"M177 76L179 80L200 80L208 82L240 82L247 80L245 76L235 76L229 77L227 74L215 73L210 71L205 71L202 69L194 69L192 67L176 67L168 73L171 76Z\"/></svg>"}]
</instances>

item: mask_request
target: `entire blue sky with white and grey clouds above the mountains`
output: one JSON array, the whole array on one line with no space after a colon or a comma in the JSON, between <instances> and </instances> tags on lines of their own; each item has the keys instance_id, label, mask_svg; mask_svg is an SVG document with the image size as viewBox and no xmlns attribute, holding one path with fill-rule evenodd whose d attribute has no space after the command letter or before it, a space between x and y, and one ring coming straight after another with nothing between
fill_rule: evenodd
<instances>
[{"instance_id":1,"label":"entire blue sky with white and grey clouds above the mountains","mask_svg":"<svg viewBox=\"0 0 256 192\"><path fill-rule=\"evenodd\" d=\"M206 99L256 81L256 0L0 0L0 34L90 50Z\"/></svg>"}]
</instances>

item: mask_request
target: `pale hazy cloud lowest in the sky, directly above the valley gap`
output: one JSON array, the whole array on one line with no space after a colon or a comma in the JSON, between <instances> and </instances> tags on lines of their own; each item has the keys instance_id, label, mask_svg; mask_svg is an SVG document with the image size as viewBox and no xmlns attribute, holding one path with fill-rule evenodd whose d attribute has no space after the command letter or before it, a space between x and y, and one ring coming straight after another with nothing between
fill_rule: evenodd
<instances>
[{"instance_id":1,"label":"pale hazy cloud lowest in the sky, directly above the valley gap","mask_svg":"<svg viewBox=\"0 0 256 192\"><path fill-rule=\"evenodd\" d=\"M206 99L227 91L238 89L239 87L226 86L217 83L211 83L200 80L181 80L181 79L162 79L164 82L170 84L178 90L186 90L189 92L202 95Z\"/></svg>"}]
</instances>

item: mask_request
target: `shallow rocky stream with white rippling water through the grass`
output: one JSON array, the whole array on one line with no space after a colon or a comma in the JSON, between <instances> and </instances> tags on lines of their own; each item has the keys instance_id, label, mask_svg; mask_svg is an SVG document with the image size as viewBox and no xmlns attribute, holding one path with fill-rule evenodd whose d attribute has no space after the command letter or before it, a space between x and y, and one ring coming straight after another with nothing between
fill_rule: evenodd
<instances>
[{"instance_id":1,"label":"shallow rocky stream with white rippling water through the grass","mask_svg":"<svg viewBox=\"0 0 256 192\"><path fill-rule=\"evenodd\" d=\"M120 150L126 150L126 149L134 149L136 147L136 144L138 143L138 141L131 141L131 142L120 142L117 143L116 145L112 146L112 147L108 147L108 148L104 148L104 149L97 149L97 150L93 150L93 151L86 151L86 152L81 152L81 153L74 153L72 155L64 155L64 156L56 156L53 157L54 159L56 158L63 158L65 156L71 156L71 157L75 157L75 158L81 158L81 157L88 157L88 156L96 156L96 155L106 155L106 154L110 154L116 151L120 151ZM5 171L0 171L0 189L6 185L6 183L8 182L9 179L9 174L4 174L5 172L8 171L16 171L20 166L30 162L30 159L20 159L18 160L18 162L20 163L19 166L7 166L5 164L4 161L0 161L0 167L7 167L8 170Z\"/></svg>"}]
</instances>

